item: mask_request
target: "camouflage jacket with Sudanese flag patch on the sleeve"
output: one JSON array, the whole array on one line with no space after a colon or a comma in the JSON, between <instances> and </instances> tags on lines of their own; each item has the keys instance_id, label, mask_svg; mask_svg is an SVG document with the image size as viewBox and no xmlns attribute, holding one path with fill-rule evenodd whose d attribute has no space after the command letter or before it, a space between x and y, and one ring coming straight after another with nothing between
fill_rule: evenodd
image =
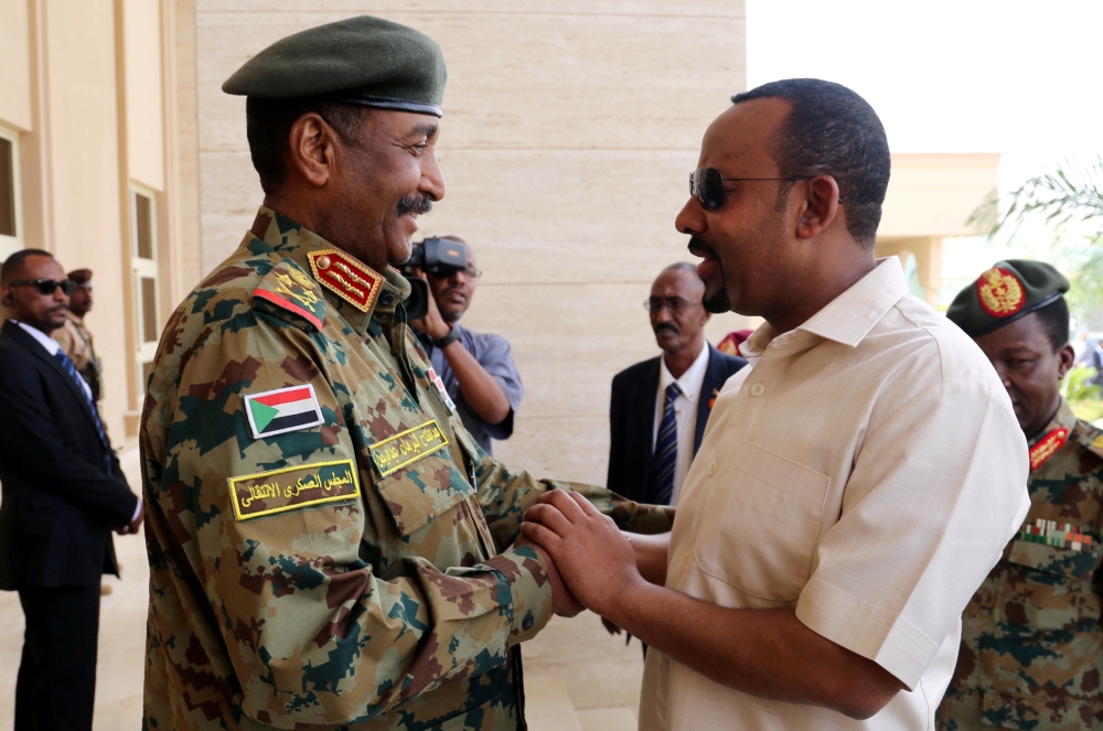
<instances>
[{"instance_id":1,"label":"camouflage jacket with Sudanese flag patch on the sleeve","mask_svg":"<svg viewBox=\"0 0 1103 731\"><path fill-rule=\"evenodd\" d=\"M546 490L482 452L406 324L409 283L261 208L176 309L142 413L146 729L524 728Z\"/></svg>"}]
</instances>

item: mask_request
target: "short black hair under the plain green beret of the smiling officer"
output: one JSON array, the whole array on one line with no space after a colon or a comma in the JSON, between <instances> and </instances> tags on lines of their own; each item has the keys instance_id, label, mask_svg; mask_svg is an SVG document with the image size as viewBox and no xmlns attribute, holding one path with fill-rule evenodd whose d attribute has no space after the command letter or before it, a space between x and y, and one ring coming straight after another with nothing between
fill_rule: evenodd
<instances>
[{"instance_id":1,"label":"short black hair under the plain green beret of the smiling officer","mask_svg":"<svg viewBox=\"0 0 1103 731\"><path fill-rule=\"evenodd\" d=\"M253 166L260 176L260 187L265 195L276 193L287 179L291 126L299 117L311 111L324 119L341 137L342 142L356 147L360 142L360 128L371 108L325 97L246 98L245 130L249 138L249 154L253 157Z\"/></svg>"}]
</instances>

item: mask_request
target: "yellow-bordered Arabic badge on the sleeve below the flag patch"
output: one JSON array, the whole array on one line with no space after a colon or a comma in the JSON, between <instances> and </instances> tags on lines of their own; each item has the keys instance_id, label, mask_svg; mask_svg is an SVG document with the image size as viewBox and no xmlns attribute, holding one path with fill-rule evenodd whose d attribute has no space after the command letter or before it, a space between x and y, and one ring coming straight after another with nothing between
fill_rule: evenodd
<instances>
[{"instance_id":1,"label":"yellow-bordered Arabic badge on the sleeve below the flag patch","mask_svg":"<svg viewBox=\"0 0 1103 731\"><path fill-rule=\"evenodd\" d=\"M251 520L358 498L360 481L352 460L338 460L231 477L229 492L237 519Z\"/></svg>"}]
</instances>

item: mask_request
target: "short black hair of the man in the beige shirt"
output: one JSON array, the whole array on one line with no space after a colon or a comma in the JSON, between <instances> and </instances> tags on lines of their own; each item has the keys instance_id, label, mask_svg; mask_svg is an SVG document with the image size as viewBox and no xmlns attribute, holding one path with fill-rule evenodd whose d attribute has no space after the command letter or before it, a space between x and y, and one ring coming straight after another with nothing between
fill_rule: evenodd
<instances>
[{"instance_id":1,"label":"short black hair of the man in the beige shirt","mask_svg":"<svg viewBox=\"0 0 1103 731\"><path fill-rule=\"evenodd\" d=\"M731 97L732 104L780 98L792 105L773 139L784 178L831 175L846 211L846 228L872 247L881 222L892 158L885 127L869 103L842 84L818 78L771 82ZM782 193L791 184L782 187Z\"/></svg>"}]
</instances>

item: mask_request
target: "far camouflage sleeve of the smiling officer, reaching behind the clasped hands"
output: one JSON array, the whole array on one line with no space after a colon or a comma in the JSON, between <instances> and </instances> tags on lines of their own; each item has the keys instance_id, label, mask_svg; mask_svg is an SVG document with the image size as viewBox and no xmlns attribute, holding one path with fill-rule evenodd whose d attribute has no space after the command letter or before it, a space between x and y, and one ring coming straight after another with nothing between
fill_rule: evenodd
<instances>
[{"instance_id":1,"label":"far camouflage sleeve of the smiling officer, reaching behind the clasped hands","mask_svg":"<svg viewBox=\"0 0 1103 731\"><path fill-rule=\"evenodd\" d=\"M474 462L475 486L483 516L490 525L499 550L510 546L521 534L522 517L536 499L549 490L585 495L599 510L613 518L621 530L640 534L668 533L674 525L674 508L643 505L597 485L537 480L532 473L513 471L486 454L467 432L459 419L452 419L456 436Z\"/></svg>"}]
</instances>

